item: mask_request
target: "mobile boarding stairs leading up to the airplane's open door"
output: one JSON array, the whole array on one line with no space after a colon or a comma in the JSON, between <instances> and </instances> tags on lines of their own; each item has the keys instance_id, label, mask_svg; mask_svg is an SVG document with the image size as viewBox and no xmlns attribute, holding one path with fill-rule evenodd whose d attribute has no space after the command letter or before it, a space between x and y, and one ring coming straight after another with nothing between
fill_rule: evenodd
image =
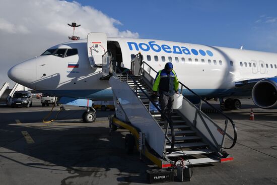
<instances>
[{"instance_id":1,"label":"mobile boarding stairs leading up to the airplane's open door","mask_svg":"<svg viewBox=\"0 0 277 185\"><path fill-rule=\"evenodd\" d=\"M126 115L125 121L145 133L150 151L162 161L160 167L173 166L182 159L188 166L233 159L223 151L236 143L236 127L232 119L224 115L226 119L221 128L184 97L182 109L174 110L171 120L166 115L162 120L162 112L151 98L155 80L151 72L155 73L154 76L157 72L142 61L141 54L132 59L130 73L122 73L115 61L111 61L110 66L112 77L109 83L115 103ZM182 93L186 86L180 83L180 87ZM150 111L150 103L158 111ZM228 122L231 122L234 137L227 133ZM230 147L225 146L226 137L231 141Z\"/></svg>"}]
</instances>

